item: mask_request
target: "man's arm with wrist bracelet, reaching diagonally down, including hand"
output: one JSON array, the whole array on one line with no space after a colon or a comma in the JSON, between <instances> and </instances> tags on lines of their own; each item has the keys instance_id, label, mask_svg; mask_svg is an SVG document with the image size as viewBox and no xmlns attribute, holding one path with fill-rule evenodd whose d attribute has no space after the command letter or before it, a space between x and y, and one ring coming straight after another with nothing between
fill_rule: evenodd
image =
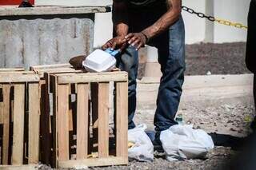
<instances>
[{"instance_id":1,"label":"man's arm with wrist bracelet, reaching diagonally down, including hand","mask_svg":"<svg viewBox=\"0 0 256 170\"><path fill-rule=\"evenodd\" d=\"M169 6L168 11L154 25L146 28L141 33L128 34L126 36L126 39L129 40L128 43L136 45L137 49L140 49L150 38L154 38L168 30L182 13L182 0L167 0L167 5Z\"/></svg>"}]
</instances>

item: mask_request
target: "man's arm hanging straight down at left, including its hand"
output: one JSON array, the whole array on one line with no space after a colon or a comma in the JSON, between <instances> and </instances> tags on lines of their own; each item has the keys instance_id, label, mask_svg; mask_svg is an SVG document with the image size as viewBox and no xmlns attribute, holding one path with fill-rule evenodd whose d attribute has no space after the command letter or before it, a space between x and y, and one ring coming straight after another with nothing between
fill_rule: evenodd
<instances>
[{"instance_id":1,"label":"man's arm hanging straight down at left, including its hand","mask_svg":"<svg viewBox=\"0 0 256 170\"><path fill-rule=\"evenodd\" d=\"M128 11L127 11L126 0L114 0L113 11L112 11L112 21L114 25L115 38L110 39L102 46L102 49L125 49L126 48L126 38L128 34Z\"/></svg>"}]
</instances>

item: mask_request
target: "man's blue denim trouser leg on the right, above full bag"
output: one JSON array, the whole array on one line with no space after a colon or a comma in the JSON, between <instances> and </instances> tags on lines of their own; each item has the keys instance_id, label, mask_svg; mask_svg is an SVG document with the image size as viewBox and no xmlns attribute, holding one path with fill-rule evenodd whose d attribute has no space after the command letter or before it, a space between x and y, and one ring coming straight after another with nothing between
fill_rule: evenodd
<instances>
[{"instance_id":1,"label":"man's blue denim trouser leg on the right, above full bag","mask_svg":"<svg viewBox=\"0 0 256 170\"><path fill-rule=\"evenodd\" d=\"M157 109L154 125L157 132L166 130L172 125L178 111L185 71L185 30L182 17L170 26L169 41L158 44L158 61L162 77L158 89Z\"/></svg>"}]
</instances>

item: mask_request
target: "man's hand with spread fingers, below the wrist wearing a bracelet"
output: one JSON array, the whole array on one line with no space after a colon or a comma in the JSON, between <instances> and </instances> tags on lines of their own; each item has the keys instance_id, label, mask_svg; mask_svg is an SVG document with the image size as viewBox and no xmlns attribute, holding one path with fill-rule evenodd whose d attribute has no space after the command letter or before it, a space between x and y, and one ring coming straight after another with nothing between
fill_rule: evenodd
<instances>
[{"instance_id":1,"label":"man's hand with spread fingers, below the wrist wearing a bracelet","mask_svg":"<svg viewBox=\"0 0 256 170\"><path fill-rule=\"evenodd\" d=\"M136 47L136 50L138 50L146 45L148 38L146 34L143 34L142 32L130 33L126 35L126 41L128 42L128 44L133 45L134 47Z\"/></svg>"}]
</instances>

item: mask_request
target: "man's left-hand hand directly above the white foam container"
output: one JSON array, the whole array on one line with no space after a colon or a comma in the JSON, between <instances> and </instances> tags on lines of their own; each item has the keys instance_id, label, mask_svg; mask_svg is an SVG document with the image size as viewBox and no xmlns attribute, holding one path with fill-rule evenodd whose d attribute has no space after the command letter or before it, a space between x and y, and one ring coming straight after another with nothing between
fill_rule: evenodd
<instances>
[{"instance_id":1,"label":"man's left-hand hand directly above the white foam container","mask_svg":"<svg viewBox=\"0 0 256 170\"><path fill-rule=\"evenodd\" d=\"M126 49L126 45L127 45L126 38L123 36L118 36L106 42L106 44L102 46L102 49L106 50L110 48L110 49L120 49L122 51L123 49Z\"/></svg>"}]
</instances>

